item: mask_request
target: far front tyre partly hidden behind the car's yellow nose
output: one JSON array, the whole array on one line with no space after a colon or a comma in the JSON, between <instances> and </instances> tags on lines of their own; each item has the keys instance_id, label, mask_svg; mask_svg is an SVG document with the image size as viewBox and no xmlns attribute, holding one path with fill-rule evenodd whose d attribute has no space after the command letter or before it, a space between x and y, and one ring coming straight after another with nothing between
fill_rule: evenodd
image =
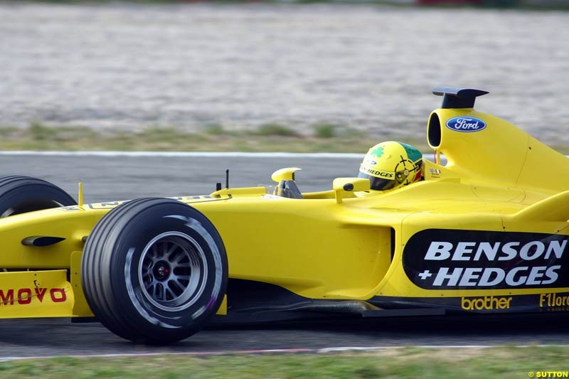
<instances>
[{"instance_id":1,"label":"far front tyre partly hidden behind the car's yellow nose","mask_svg":"<svg viewBox=\"0 0 569 379\"><path fill-rule=\"evenodd\" d=\"M67 192L48 181L28 176L0 178L0 218L76 204Z\"/></svg>"}]
</instances>

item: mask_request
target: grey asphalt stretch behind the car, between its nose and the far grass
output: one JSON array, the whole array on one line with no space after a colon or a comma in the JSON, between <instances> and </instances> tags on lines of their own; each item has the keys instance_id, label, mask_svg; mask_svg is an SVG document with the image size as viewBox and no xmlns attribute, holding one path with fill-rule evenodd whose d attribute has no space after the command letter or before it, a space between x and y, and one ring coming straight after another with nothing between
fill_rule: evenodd
<instances>
[{"instance_id":1,"label":"grey asphalt stretch behind the car, between its nose and the far grass","mask_svg":"<svg viewBox=\"0 0 569 379\"><path fill-rule=\"evenodd\" d=\"M363 151L365 154L365 151ZM51 181L77 195L81 181L85 202L127 200L141 197L203 195L225 186L225 170L229 169L229 185L271 186L273 171L283 167L299 167L297 181L302 191L331 189L332 180L357 176L363 154L349 158L334 155L316 158L310 154L201 154L184 156L124 155L0 155L0 175L27 175Z\"/></svg>"}]
</instances>

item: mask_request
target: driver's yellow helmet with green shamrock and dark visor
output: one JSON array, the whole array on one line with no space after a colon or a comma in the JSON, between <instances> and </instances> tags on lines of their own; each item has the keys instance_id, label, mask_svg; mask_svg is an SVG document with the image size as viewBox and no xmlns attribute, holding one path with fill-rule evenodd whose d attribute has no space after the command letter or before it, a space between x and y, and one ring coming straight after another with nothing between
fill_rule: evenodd
<instances>
[{"instance_id":1,"label":"driver's yellow helmet with green shamrock and dark visor","mask_svg":"<svg viewBox=\"0 0 569 379\"><path fill-rule=\"evenodd\" d=\"M381 142L368 150L358 178L368 178L370 188L385 191L407 186L421 179L422 154L401 142Z\"/></svg>"}]
</instances>

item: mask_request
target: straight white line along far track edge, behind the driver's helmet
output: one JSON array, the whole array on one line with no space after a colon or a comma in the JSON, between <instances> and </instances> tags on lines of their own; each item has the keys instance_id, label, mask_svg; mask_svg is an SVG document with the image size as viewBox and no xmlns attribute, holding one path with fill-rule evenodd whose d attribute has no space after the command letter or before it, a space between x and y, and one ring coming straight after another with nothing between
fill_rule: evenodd
<instances>
[{"instance_id":1,"label":"straight white line along far track edge, behind the driver's helmet","mask_svg":"<svg viewBox=\"0 0 569 379\"><path fill-rule=\"evenodd\" d=\"M363 154L353 153L243 153L220 151L0 151L0 156L156 156L156 157L192 157L192 158L355 158L362 159Z\"/></svg>"}]
</instances>

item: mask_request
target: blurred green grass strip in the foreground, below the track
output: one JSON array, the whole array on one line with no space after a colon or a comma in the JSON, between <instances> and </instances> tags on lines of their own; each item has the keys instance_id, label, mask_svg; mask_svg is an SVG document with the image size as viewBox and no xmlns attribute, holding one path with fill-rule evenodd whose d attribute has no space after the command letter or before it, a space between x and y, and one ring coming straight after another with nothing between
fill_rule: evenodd
<instances>
[{"instance_id":1,"label":"blurred green grass strip in the foreground, below the track","mask_svg":"<svg viewBox=\"0 0 569 379\"><path fill-rule=\"evenodd\" d=\"M0 363L0 378L531 378L568 372L569 346L398 348L373 353L52 358ZM552 376L553 378L553 376Z\"/></svg>"}]
</instances>

